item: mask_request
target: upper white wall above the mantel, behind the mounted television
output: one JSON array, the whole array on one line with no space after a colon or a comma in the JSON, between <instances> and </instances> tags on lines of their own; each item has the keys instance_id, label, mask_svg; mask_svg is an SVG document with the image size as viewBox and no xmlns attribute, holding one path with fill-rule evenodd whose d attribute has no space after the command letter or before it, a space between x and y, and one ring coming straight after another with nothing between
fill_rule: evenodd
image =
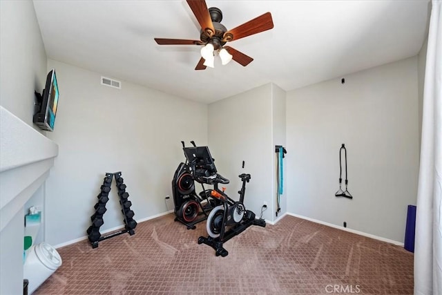
<instances>
[{"instance_id":1,"label":"upper white wall above the mantel, behind the mounted television","mask_svg":"<svg viewBox=\"0 0 442 295\"><path fill-rule=\"evenodd\" d=\"M47 74L34 4L0 1L0 15L0 104L32 126L34 91L41 93Z\"/></svg>"}]
</instances>

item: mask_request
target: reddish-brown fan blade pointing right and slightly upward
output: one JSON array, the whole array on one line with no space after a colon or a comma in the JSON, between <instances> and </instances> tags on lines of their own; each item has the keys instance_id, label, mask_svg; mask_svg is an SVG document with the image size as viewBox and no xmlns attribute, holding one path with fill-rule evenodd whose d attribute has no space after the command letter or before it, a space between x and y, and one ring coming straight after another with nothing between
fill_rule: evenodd
<instances>
[{"instance_id":1,"label":"reddish-brown fan blade pointing right and slightly upward","mask_svg":"<svg viewBox=\"0 0 442 295\"><path fill-rule=\"evenodd\" d=\"M258 32L270 30L271 28L273 28L273 19L271 19L270 12L266 12L264 15L251 19L247 23L242 23L242 25L225 32L223 41L238 40Z\"/></svg>"}]
</instances>

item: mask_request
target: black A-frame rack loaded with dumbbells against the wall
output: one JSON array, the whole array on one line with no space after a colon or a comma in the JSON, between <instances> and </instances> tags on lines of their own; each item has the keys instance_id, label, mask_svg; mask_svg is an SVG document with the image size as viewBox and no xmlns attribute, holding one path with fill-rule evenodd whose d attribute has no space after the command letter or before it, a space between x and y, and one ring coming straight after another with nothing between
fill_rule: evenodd
<instances>
[{"instance_id":1,"label":"black A-frame rack loaded with dumbbells against the wall","mask_svg":"<svg viewBox=\"0 0 442 295\"><path fill-rule=\"evenodd\" d=\"M103 215L107 211L106 203L109 200L108 196L111 191L111 184L114 177L118 189L119 204L122 206L122 213L124 216L124 229L109 234L108 236L102 236L99 232L99 228L104 224ZM131 210L132 202L128 200L129 194L126 192L126 184L124 184L123 181L121 172L106 173L106 176L104 177L103 185L100 187L101 191L97 196L98 202L94 206L95 213L93 213L93 216L90 216L91 225L86 231L93 248L97 248L98 242L102 240L126 233L129 233L131 236L135 234L134 229L137 227L137 222L133 219L135 213Z\"/></svg>"}]
</instances>

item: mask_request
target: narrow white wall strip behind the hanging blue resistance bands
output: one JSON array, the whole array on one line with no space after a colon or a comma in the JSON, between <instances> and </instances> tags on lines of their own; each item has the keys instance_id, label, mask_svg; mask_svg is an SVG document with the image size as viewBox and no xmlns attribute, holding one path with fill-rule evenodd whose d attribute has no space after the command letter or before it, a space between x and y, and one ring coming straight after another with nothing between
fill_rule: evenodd
<instances>
[{"instance_id":1,"label":"narrow white wall strip behind the hanging blue resistance bands","mask_svg":"<svg viewBox=\"0 0 442 295\"><path fill-rule=\"evenodd\" d=\"M273 215L273 219L282 216L284 213L287 212L287 194L285 193L287 191L287 181L285 178L287 178L287 167L285 166L287 158L284 158L282 160L282 167L284 169L282 173L283 177L283 183L282 183L282 189L283 193L280 196L280 212L278 213L278 216L276 216L276 210L278 209L278 205L276 202L276 196L278 193L278 174L276 173L276 167L277 167L277 161L278 161L278 154L275 153L274 147L276 145L282 145L286 146L286 129L285 126L287 124L285 116L285 106L286 106L286 92L282 90L282 88L276 86L276 84L271 84L271 109L272 109L272 137L273 137L273 201L270 204L271 213Z\"/></svg>"}]
</instances>

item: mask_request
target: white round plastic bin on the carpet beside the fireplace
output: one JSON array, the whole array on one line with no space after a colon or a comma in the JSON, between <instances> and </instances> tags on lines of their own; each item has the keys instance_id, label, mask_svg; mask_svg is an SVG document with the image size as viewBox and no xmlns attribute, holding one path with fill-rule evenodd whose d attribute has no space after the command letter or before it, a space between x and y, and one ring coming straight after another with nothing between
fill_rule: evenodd
<instances>
[{"instance_id":1,"label":"white round plastic bin on the carpet beside the fireplace","mask_svg":"<svg viewBox=\"0 0 442 295\"><path fill-rule=\"evenodd\" d=\"M32 246L23 265L23 278L29 280L28 294L32 294L61 266L57 250L46 242Z\"/></svg>"}]
</instances>

